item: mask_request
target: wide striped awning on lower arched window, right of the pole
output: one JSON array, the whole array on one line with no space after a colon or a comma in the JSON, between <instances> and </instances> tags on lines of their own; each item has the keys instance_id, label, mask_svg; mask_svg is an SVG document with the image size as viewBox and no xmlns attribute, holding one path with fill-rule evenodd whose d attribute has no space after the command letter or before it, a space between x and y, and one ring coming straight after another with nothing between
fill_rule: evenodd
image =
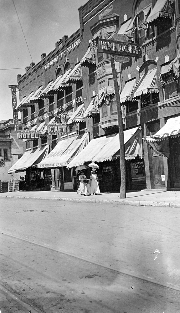
<instances>
[{"instance_id":1,"label":"wide striped awning on lower arched window, right of the pole","mask_svg":"<svg viewBox=\"0 0 180 313\"><path fill-rule=\"evenodd\" d=\"M136 87L131 93L130 99L137 98L142 94L159 92L157 85L157 69L152 69L151 71L142 74Z\"/></svg>"}]
</instances>

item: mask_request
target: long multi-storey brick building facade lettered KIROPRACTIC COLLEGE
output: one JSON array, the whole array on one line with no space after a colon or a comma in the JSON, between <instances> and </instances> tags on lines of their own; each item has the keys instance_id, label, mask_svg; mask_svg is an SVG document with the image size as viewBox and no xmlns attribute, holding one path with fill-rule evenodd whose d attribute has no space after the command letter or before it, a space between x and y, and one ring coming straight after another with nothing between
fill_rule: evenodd
<instances>
[{"instance_id":1,"label":"long multi-storey brick building facade lettered KIROPRACTIC COLLEGE","mask_svg":"<svg viewBox=\"0 0 180 313\"><path fill-rule=\"evenodd\" d=\"M80 29L69 38L64 36L55 44L53 51L41 55L38 64L30 64L23 76L18 75L20 100L23 101L23 97L32 91L35 92L41 86L43 90L66 71L70 70L71 73L78 64L81 65L79 78L58 85L44 98L25 101L24 106L17 108L22 112L23 129L31 129L35 125L37 129L42 123L47 125L59 114L73 116L68 126L68 136L49 136L44 133L38 141L27 141L27 151L45 145L49 145L52 150L57 142L69 136L82 136L86 132L89 132L90 140L112 137L118 133L111 56L99 52L98 38L109 39L112 34L121 33L132 44L142 45L141 58L133 57L126 63L115 62L120 94L125 95L121 97L124 131L141 130L141 138L144 138L143 157L137 153L132 158L127 157L127 189L180 188L180 169L178 162L174 162L175 157L178 160L180 157L179 137L168 139L168 158L157 149L152 149L146 140L147 136L153 136L162 129L169 118L180 115L179 13L178 2L169 0L89 0L80 7ZM98 100L97 110L88 113L89 105L100 99L100 95L104 100ZM77 109L79 112L80 106L87 114L84 119L78 117L78 120L73 114ZM111 160L102 159L98 164L101 190L119 190L120 165L117 153ZM42 170L36 169L36 175L38 171ZM56 189L73 188L75 168L49 167L47 171L49 175L51 171L50 182ZM70 180L67 185L66 177Z\"/></svg>"}]
</instances>

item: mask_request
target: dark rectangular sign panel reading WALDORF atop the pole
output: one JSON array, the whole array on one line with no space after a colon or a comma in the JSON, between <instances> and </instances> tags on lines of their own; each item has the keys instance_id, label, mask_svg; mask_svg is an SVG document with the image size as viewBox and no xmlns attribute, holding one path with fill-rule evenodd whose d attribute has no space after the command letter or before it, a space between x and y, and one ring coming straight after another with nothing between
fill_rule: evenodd
<instances>
[{"instance_id":1,"label":"dark rectangular sign panel reading WALDORF atop the pole","mask_svg":"<svg viewBox=\"0 0 180 313\"><path fill-rule=\"evenodd\" d=\"M141 44L99 38L99 52L126 57L142 57Z\"/></svg>"}]
</instances>

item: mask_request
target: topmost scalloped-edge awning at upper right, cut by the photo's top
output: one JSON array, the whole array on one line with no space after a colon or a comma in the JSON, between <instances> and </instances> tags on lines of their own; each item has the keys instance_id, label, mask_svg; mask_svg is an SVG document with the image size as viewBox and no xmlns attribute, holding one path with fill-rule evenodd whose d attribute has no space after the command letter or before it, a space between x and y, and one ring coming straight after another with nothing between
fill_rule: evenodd
<instances>
[{"instance_id":1,"label":"topmost scalloped-edge awning at upper right, cut by the photo's top","mask_svg":"<svg viewBox=\"0 0 180 313\"><path fill-rule=\"evenodd\" d=\"M146 22L151 23L158 17L171 18L172 13L171 13L170 3L171 1L169 0L157 0Z\"/></svg>"}]
</instances>

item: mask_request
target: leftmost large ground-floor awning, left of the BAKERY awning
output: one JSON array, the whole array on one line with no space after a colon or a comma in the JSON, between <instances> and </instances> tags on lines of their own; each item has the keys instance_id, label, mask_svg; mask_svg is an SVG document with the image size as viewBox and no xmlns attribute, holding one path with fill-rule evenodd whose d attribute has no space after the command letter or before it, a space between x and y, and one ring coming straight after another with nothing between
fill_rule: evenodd
<instances>
[{"instance_id":1,"label":"leftmost large ground-floor awning, left of the BAKERY awning","mask_svg":"<svg viewBox=\"0 0 180 313\"><path fill-rule=\"evenodd\" d=\"M8 170L8 173L24 171L28 167L35 166L41 162L49 152L49 145L31 151L26 151L23 156Z\"/></svg>"}]
</instances>

